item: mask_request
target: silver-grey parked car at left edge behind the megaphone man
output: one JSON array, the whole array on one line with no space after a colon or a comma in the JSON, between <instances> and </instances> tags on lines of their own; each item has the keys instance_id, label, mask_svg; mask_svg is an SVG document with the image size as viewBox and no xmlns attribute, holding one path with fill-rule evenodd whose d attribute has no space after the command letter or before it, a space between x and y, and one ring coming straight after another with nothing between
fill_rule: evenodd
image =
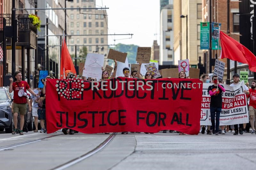
<instances>
[{"instance_id":1,"label":"silver-grey parked car at left edge behind the megaphone man","mask_svg":"<svg viewBox=\"0 0 256 170\"><path fill-rule=\"evenodd\" d=\"M12 97L5 87L0 87L0 131L12 133L13 118L12 118Z\"/></svg>"}]
</instances>

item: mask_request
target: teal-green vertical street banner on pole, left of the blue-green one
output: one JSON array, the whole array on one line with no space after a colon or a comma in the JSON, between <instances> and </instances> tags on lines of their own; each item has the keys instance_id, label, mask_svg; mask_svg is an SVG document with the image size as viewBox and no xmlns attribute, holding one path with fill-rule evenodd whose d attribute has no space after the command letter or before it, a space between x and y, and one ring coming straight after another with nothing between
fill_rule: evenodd
<instances>
[{"instance_id":1,"label":"teal-green vertical street banner on pole, left of the blue-green one","mask_svg":"<svg viewBox=\"0 0 256 170\"><path fill-rule=\"evenodd\" d=\"M200 49L210 49L210 23L200 23Z\"/></svg>"}]
</instances>

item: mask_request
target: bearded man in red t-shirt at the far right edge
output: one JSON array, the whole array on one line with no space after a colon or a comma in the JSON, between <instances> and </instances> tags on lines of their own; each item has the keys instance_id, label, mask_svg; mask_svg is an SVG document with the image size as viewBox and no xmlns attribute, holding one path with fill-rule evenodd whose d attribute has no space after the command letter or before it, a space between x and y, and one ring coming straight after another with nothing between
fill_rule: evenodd
<instances>
[{"instance_id":1,"label":"bearded man in red t-shirt at the far right edge","mask_svg":"<svg viewBox=\"0 0 256 170\"><path fill-rule=\"evenodd\" d=\"M251 84L251 89L249 89L248 91L244 91L246 93L246 97L249 98L250 97L250 102L249 102L249 116L250 116L250 124L252 127L252 132L251 134L256 135L255 132L255 121L254 118L256 116L256 80L252 80L252 84Z\"/></svg>"}]
</instances>

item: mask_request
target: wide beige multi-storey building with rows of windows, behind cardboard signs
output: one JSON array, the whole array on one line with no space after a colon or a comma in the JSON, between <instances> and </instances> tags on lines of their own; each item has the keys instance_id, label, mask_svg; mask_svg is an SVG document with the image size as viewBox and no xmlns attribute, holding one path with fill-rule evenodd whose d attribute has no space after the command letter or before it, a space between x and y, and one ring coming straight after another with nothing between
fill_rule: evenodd
<instances>
[{"instance_id":1,"label":"wide beige multi-storey building with rows of windows, behind cardboard signs","mask_svg":"<svg viewBox=\"0 0 256 170\"><path fill-rule=\"evenodd\" d=\"M95 8L95 0L74 0L67 2L67 8ZM105 55L105 62L108 54L108 17L106 10L68 10L68 35L71 36L67 42L70 54L77 56L84 46L88 53L99 53ZM97 36L95 36L97 35Z\"/></svg>"}]
</instances>

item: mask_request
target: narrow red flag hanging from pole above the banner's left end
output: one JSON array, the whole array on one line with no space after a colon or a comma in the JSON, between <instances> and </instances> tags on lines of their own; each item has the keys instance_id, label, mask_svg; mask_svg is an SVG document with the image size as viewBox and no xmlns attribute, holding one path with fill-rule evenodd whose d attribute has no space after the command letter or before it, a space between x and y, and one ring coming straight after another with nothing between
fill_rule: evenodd
<instances>
[{"instance_id":1,"label":"narrow red flag hanging from pole above the banner's left end","mask_svg":"<svg viewBox=\"0 0 256 170\"><path fill-rule=\"evenodd\" d=\"M76 74L76 69L72 62L71 56L68 52L68 47L66 45L65 38L62 41L62 46L61 46L60 78L63 78L64 70L71 70L74 74Z\"/></svg>"}]
</instances>

